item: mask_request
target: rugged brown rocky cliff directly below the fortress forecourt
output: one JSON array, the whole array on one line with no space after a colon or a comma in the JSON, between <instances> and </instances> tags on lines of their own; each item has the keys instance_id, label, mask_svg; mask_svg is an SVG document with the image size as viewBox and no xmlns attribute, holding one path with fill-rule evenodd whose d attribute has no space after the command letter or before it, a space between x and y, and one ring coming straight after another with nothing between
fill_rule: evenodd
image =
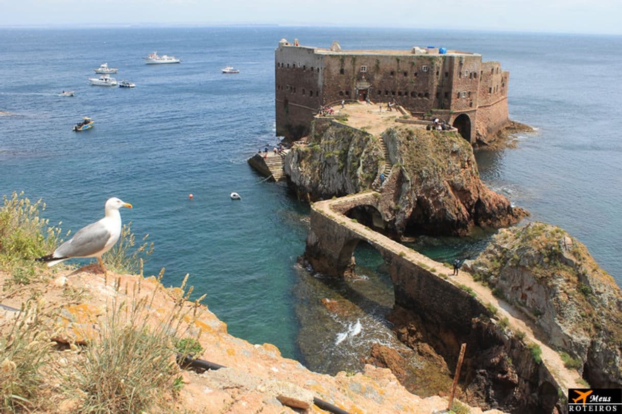
<instances>
[{"instance_id":1,"label":"rugged brown rocky cliff directly below the fortress forecourt","mask_svg":"<svg viewBox=\"0 0 622 414\"><path fill-rule=\"evenodd\" d=\"M527 214L481 182L470 144L455 133L404 126L377 137L316 120L308 145L294 146L287 156L285 174L299 194L327 199L369 189L386 163L391 174L382 214L397 235L462 235L476 225L511 225Z\"/></svg>"}]
</instances>

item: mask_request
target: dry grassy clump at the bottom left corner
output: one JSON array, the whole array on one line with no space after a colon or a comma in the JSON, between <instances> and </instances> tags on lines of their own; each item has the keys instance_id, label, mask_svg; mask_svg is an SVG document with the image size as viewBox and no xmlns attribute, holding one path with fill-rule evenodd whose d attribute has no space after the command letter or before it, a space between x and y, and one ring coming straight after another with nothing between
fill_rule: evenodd
<instances>
[{"instance_id":1,"label":"dry grassy clump at the bottom left corner","mask_svg":"<svg viewBox=\"0 0 622 414\"><path fill-rule=\"evenodd\" d=\"M34 302L24 304L7 335L0 336L2 412L30 412L42 403L40 368L48 363L52 342L40 323Z\"/></svg>"}]
</instances>

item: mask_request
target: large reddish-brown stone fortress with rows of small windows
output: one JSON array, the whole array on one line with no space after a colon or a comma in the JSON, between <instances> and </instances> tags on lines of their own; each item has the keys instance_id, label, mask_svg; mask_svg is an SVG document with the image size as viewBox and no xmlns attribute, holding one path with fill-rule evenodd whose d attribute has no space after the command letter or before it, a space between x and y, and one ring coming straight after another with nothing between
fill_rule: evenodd
<instances>
[{"instance_id":1,"label":"large reddish-brown stone fortress with rows of small windows","mask_svg":"<svg viewBox=\"0 0 622 414\"><path fill-rule=\"evenodd\" d=\"M509 72L477 53L341 50L338 42L325 49L282 39L274 63L276 133L289 140L307 135L320 106L351 100L392 102L414 117L445 120L472 144L509 122Z\"/></svg>"}]
</instances>

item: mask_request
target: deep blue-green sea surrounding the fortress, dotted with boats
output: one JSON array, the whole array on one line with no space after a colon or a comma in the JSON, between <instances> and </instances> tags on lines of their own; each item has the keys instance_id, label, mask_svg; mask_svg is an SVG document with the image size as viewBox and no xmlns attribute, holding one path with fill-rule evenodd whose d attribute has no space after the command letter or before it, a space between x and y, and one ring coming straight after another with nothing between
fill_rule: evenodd
<instances>
[{"instance_id":1,"label":"deep blue-green sea surrounding the fortress, dotted with boats","mask_svg":"<svg viewBox=\"0 0 622 414\"><path fill-rule=\"evenodd\" d=\"M62 221L63 230L74 232L101 217L108 197L132 203L133 210L122 211L124 221L155 243L147 273L165 267L164 282L172 285L190 273L195 292L207 294L204 302L231 334L274 343L285 356L332 371L330 361L322 361L327 352L356 345L352 336L333 342L340 330L361 321L363 335L356 338L389 335L378 332L386 326L391 289L378 254L361 246L359 263L371 268L362 274L371 276L356 287L374 300L358 302L361 313L349 321L313 314L318 297L348 289L295 266L309 207L284 184L261 182L246 163L278 142L274 49L283 37L320 47L339 40L344 49L437 45L500 61L510 71L511 119L537 132L521 134L516 148L479 151L482 178L529 210L530 220L576 236L622 284L620 36L327 27L0 29L0 110L12 114L0 115L0 194L23 190L44 199L50 223ZM182 63L145 65L142 57L154 50ZM103 62L136 88L91 86L86 79ZM221 74L227 65L241 73ZM62 90L75 97L59 97ZM95 127L72 132L87 115ZM230 200L231 191L242 200ZM448 238L420 248L445 259L470 254L474 244ZM374 298L376 285L383 299ZM322 340L310 342L313 336Z\"/></svg>"}]
</instances>

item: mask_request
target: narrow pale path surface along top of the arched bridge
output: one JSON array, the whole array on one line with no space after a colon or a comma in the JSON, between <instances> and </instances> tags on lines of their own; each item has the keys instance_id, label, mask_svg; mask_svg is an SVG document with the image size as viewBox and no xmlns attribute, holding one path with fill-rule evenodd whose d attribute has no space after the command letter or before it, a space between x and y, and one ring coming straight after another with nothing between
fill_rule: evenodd
<instances>
[{"instance_id":1,"label":"narrow pale path surface along top of the arched bridge","mask_svg":"<svg viewBox=\"0 0 622 414\"><path fill-rule=\"evenodd\" d=\"M373 241L373 243L383 246L386 250L392 251L397 256L404 256L405 258L412 261L412 263L423 263L428 268L434 270L435 273L448 276L447 282L450 282L454 285L463 284L465 286L473 289L473 292L476 294L476 299L479 300L482 304L492 304L494 307L498 308L498 317L508 318L508 326L509 328L516 331L523 331L525 335L526 343L535 343L540 346L542 349L542 363L549 369L549 372L552 376L557 380L560 388L562 390L566 390L569 388L585 388L585 385L579 384L577 382L578 379L581 378L579 373L574 369L568 369L564 366L564 361L559 356L554 349L550 348L547 344L545 344L542 340L537 339L537 328L531 320L527 320L524 313L521 312L513 305L504 302L503 300L499 300L497 297L494 297L491 290L488 287L481 285L478 282L473 281L473 277L469 272L460 271L458 276L452 276L452 269L448 269L442 263L434 261L430 258L427 258L423 254L418 253L410 248L407 248L397 241L391 240L390 238L381 235L380 233L374 232L370 228L351 221L345 215L341 215L335 210L332 209L332 206L335 204L339 204L340 202L345 202L346 200L352 201L359 198L369 197L368 192L353 194L351 196L341 197L339 199L333 200L325 200L320 202L315 202L312 205L312 209L320 212L325 217L333 220L337 225L343 225L349 228L351 231L355 232L358 236L363 238L364 240ZM438 276L442 278L441 276Z\"/></svg>"}]
</instances>

